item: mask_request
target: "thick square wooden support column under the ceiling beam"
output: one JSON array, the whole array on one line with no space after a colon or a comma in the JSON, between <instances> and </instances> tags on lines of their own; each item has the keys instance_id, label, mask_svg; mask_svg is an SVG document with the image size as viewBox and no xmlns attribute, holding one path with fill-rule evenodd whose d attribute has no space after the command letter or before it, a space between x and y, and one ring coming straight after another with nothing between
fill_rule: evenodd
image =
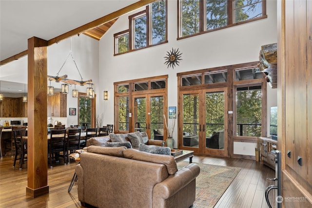
<instances>
[{"instance_id":1,"label":"thick square wooden support column under the ceiling beam","mask_svg":"<svg viewBox=\"0 0 312 208\"><path fill-rule=\"evenodd\" d=\"M26 195L49 193L47 156L47 45L28 39L28 141Z\"/></svg>"}]
</instances>

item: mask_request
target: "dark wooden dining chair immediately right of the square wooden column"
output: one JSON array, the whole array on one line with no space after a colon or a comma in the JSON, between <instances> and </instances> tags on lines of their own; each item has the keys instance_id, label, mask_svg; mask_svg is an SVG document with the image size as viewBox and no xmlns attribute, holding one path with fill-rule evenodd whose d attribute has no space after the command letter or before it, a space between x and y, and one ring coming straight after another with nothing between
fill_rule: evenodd
<instances>
[{"instance_id":1,"label":"dark wooden dining chair immediately right of the square wooden column","mask_svg":"<svg viewBox=\"0 0 312 208\"><path fill-rule=\"evenodd\" d=\"M59 161L59 157L64 159L64 164L66 164L66 130L51 130L50 140L48 140L48 156L50 162L50 168L52 168L52 159L54 158L55 161ZM60 154L62 152L63 154Z\"/></svg>"}]
</instances>

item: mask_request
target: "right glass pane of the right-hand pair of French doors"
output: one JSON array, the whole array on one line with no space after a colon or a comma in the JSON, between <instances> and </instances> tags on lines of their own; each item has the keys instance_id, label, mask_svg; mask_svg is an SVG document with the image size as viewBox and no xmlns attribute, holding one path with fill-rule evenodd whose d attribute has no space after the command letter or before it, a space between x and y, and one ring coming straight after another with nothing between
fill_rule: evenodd
<instances>
[{"instance_id":1,"label":"right glass pane of the right-hand pair of French doors","mask_svg":"<svg viewBox=\"0 0 312 208\"><path fill-rule=\"evenodd\" d=\"M206 148L224 149L224 92L206 93Z\"/></svg>"}]
</instances>

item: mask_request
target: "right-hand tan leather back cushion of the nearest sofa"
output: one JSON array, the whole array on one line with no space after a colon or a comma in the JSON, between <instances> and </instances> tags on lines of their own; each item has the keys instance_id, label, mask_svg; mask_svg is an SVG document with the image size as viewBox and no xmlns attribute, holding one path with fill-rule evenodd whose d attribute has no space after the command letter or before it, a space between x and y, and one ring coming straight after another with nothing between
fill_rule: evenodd
<instances>
[{"instance_id":1,"label":"right-hand tan leather back cushion of the nearest sofa","mask_svg":"<svg viewBox=\"0 0 312 208\"><path fill-rule=\"evenodd\" d=\"M172 155L153 154L135 149L124 150L123 155L125 158L133 160L163 164L167 167L168 174L170 175L174 175L177 171L176 160Z\"/></svg>"}]
</instances>

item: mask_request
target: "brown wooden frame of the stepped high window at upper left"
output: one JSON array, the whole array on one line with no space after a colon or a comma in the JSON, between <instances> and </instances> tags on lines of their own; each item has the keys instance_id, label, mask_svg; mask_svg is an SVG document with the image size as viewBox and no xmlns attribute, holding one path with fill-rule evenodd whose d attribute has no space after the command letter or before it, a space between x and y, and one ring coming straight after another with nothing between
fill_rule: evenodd
<instances>
[{"instance_id":1,"label":"brown wooden frame of the stepped high window at upper left","mask_svg":"<svg viewBox=\"0 0 312 208\"><path fill-rule=\"evenodd\" d=\"M160 0L159 0L160 1ZM157 2L157 1L155 1ZM153 2L153 3L155 3ZM114 56L120 55L120 54L125 54L125 53L129 53L129 52L133 52L133 51L137 51L137 50L141 50L141 49L145 49L145 48L149 48L149 47L153 47L156 45L160 45L160 44L164 44L164 43L168 43L168 1L166 0L166 33L165 33L165 40L162 42L158 42L156 44L152 44L152 3L148 4L145 7L145 10L142 10L140 12L137 12L136 14L130 15L129 16L129 29L118 32L116 34L114 34ZM134 48L134 20L144 16L144 14L146 15L146 46L145 47L141 47L141 48ZM129 50L126 52L122 52L122 53L116 53L117 52L117 38L120 37L121 34L129 34Z\"/></svg>"}]
</instances>

